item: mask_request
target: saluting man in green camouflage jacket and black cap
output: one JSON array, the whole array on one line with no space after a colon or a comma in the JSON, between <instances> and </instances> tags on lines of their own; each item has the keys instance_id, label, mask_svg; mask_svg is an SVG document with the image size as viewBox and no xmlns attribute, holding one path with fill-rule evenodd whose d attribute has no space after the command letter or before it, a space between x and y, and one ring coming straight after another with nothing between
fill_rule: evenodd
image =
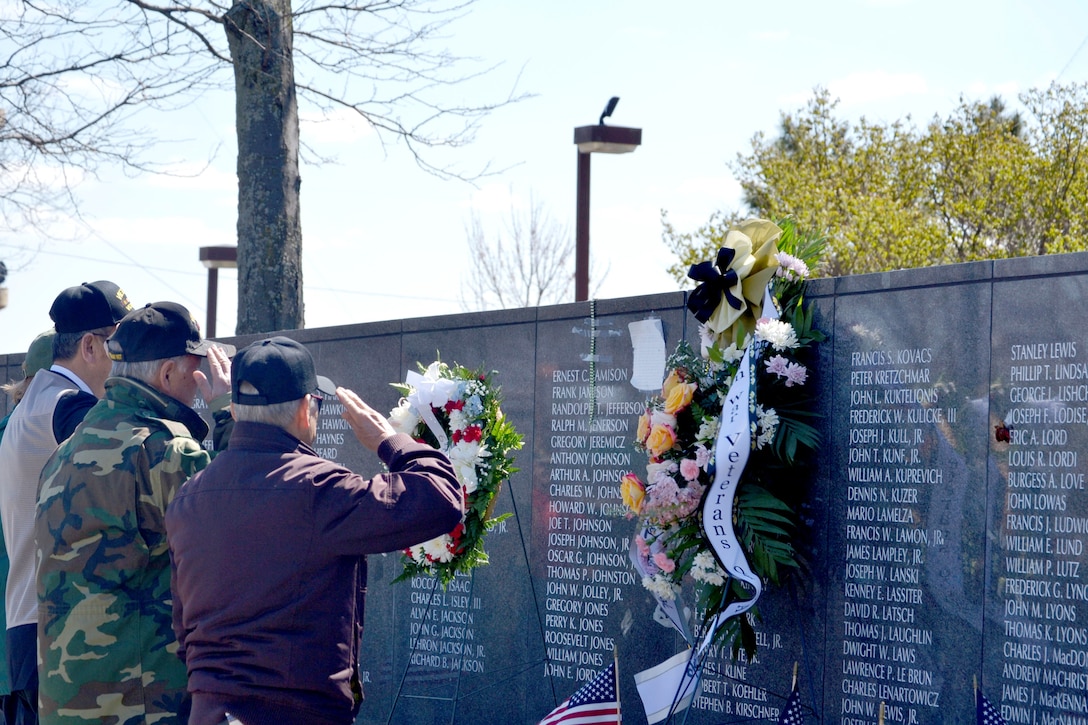
<instances>
[{"instance_id":1,"label":"saluting man in green camouflage jacket and black cap","mask_svg":"<svg viewBox=\"0 0 1088 725\"><path fill-rule=\"evenodd\" d=\"M210 460L208 425L189 407L198 388L217 432L227 425L231 364L173 303L127 315L108 351L106 397L41 474L39 722L184 725L164 515Z\"/></svg>"}]
</instances>

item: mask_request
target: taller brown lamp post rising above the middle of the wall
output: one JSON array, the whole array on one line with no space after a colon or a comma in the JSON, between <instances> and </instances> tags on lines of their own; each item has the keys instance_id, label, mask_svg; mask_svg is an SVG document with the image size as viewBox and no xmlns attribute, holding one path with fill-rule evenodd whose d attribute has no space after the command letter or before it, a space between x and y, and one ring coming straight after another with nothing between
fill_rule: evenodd
<instances>
[{"instance_id":1,"label":"taller brown lamp post rising above the middle of the wall","mask_svg":"<svg viewBox=\"0 0 1088 725\"><path fill-rule=\"evenodd\" d=\"M590 298L590 155L630 153L642 144L642 128L606 126L605 118L616 110L614 96L595 126L574 128L578 146L578 210L574 224L574 302Z\"/></svg>"}]
</instances>

